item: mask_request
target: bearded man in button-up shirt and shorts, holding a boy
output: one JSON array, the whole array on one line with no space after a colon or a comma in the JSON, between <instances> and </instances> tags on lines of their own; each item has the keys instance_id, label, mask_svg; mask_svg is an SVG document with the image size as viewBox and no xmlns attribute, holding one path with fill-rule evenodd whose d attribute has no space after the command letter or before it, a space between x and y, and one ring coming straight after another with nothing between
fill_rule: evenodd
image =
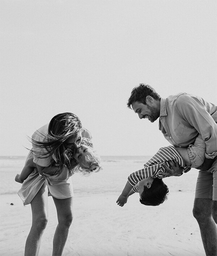
<instances>
[{"instance_id":1,"label":"bearded man in button-up shirt and shorts, holding a boy","mask_svg":"<svg viewBox=\"0 0 217 256\"><path fill-rule=\"evenodd\" d=\"M193 216L196 218L207 256L217 255L217 106L202 98L180 93L163 99L149 85L135 87L127 106L140 119L154 122L175 147L188 147L201 134L206 144L205 162L197 178ZM191 157L191 156L190 156ZM182 169L171 164L163 176L178 176Z\"/></svg>"}]
</instances>

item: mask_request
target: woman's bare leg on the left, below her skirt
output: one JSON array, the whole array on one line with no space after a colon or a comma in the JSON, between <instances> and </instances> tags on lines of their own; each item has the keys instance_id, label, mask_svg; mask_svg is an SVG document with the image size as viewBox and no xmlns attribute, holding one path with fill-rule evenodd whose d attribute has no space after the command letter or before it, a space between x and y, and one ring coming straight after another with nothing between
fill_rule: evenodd
<instances>
[{"instance_id":1,"label":"woman's bare leg on the left, below her skirt","mask_svg":"<svg viewBox=\"0 0 217 256\"><path fill-rule=\"evenodd\" d=\"M41 245L41 238L47 225L48 196L46 184L40 188L31 202L32 226L26 239L25 256L37 256Z\"/></svg>"}]
</instances>

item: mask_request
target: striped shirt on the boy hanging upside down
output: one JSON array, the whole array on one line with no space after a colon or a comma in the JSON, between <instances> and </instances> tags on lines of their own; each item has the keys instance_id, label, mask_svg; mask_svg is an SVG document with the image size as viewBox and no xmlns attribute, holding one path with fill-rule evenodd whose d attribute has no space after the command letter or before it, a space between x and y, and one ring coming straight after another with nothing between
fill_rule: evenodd
<instances>
[{"instance_id":1,"label":"striped shirt on the boy hanging upside down","mask_svg":"<svg viewBox=\"0 0 217 256\"><path fill-rule=\"evenodd\" d=\"M181 167L185 167L184 160L182 156L176 151L174 146L161 147L157 153L144 164L144 168L133 172L128 177L129 183L134 186L133 191L138 192L137 183L146 178L157 178L159 172L165 172L165 168L162 166L162 163L165 163L166 166L169 166L167 161L171 160L174 164L177 162ZM136 186L135 186L136 185Z\"/></svg>"}]
</instances>

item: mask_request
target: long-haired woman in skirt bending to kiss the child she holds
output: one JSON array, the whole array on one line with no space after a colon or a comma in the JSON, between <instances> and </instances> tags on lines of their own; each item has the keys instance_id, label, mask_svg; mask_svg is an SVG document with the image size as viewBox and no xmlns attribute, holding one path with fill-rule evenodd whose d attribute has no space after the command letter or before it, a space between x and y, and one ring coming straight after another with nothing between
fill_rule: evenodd
<instances>
[{"instance_id":1,"label":"long-haired woman in skirt bending to kiss the child she holds","mask_svg":"<svg viewBox=\"0 0 217 256\"><path fill-rule=\"evenodd\" d=\"M31 204L32 226L26 240L25 255L38 255L41 238L48 218L48 195L53 197L58 215L52 255L62 255L72 223L72 181L68 179L70 170L77 165L70 160L67 151L76 151L82 137L91 139L88 130L82 128L80 119L72 113L62 113L53 117L49 125L44 125L32 136L33 148L27 160L33 158L37 168L24 180L18 192L25 204ZM46 179L43 173L56 174L63 179ZM72 175L72 174L71 174ZM46 181L46 182L45 182Z\"/></svg>"}]
</instances>

